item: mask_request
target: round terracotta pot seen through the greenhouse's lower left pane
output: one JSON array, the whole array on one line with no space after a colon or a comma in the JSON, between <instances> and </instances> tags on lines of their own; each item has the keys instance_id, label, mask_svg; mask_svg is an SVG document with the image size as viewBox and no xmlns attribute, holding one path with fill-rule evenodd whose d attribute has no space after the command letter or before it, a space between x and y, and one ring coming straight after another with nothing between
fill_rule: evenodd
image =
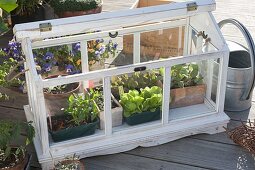
<instances>
[{"instance_id":1,"label":"round terracotta pot seen through the greenhouse's lower left pane","mask_svg":"<svg viewBox=\"0 0 255 170\"><path fill-rule=\"evenodd\" d=\"M46 79L56 78L58 76L59 75L51 75L51 76L48 76ZM62 75L62 76L66 76L66 75ZM44 93L47 114L49 115L62 114L63 111L61 111L61 109L66 108L68 106L69 96L73 93L78 93L80 91L80 86L81 86L81 83L76 83L75 88L73 88L69 92L61 93L61 94Z\"/></svg>"}]
</instances>

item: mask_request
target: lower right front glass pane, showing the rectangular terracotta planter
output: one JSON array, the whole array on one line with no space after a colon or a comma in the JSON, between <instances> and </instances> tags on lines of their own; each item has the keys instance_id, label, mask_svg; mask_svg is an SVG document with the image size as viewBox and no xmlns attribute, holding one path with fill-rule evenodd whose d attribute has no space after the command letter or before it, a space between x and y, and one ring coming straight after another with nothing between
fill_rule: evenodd
<instances>
[{"instance_id":1,"label":"lower right front glass pane, showing the rectangular terracotta planter","mask_svg":"<svg viewBox=\"0 0 255 170\"><path fill-rule=\"evenodd\" d=\"M171 67L171 120L215 111L213 64L213 60L204 60Z\"/></svg>"}]
</instances>

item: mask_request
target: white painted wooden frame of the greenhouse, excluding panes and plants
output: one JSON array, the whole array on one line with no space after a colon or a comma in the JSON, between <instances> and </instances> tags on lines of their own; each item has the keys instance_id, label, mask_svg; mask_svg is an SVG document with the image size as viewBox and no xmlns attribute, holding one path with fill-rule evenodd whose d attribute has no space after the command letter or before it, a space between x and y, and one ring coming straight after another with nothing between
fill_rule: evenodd
<instances>
[{"instance_id":1,"label":"white painted wooden frame of the greenhouse, excluding panes and plants","mask_svg":"<svg viewBox=\"0 0 255 170\"><path fill-rule=\"evenodd\" d=\"M34 145L38 160L43 169L49 169L53 164L53 159L63 159L74 153L79 155L80 158L113 154L128 151L138 146L149 147L163 144L188 135L198 133L214 134L224 131L223 126L226 126L229 121L229 117L224 113L224 96L229 50L217 23L211 14L211 11L215 9L215 1L198 0L195 2L198 5L197 10L195 11L187 11L188 2L183 2L15 26L14 32L16 39L22 43L22 50L26 56L25 67L26 69L29 69L29 71L26 72L29 105L24 106L24 109L27 120L32 120L36 128ZM201 17L206 18L206 24L203 25L199 23ZM52 30L40 32L39 24L45 22L51 23ZM185 27L184 56L140 63L140 33L176 27L179 27L179 30L182 30L183 26ZM199 28L211 35L212 43L217 48L217 51L190 55L188 49L190 49L191 46L191 27ZM104 29L102 30L102 28ZM102 31L84 34L93 30ZM107 37L109 32L114 33L115 31L118 31L118 36L125 34L134 35L134 44L136 44L134 48L134 64L89 72L87 41ZM82 73L47 80L42 79L42 77L37 74L32 49L75 42L81 42ZM211 61L214 59L220 60L216 102L214 103L210 100L205 101L208 105L212 105L212 108L214 109L208 112L208 110L203 110L204 104L201 104L171 109L169 111L171 66L189 62L199 62L202 60ZM213 67L210 66L211 64L208 62L208 72L210 76L207 80L206 97L208 99L211 94L210 87L212 86L213 75ZM160 67L164 67L165 69L162 119L161 121L141 124L125 129L122 127L113 128L110 108L110 77L132 73L136 67L142 66L146 66L148 70ZM58 143L51 142L49 140L46 121L47 115L43 88L80 81L83 82L84 87L87 87L86 83L88 80L95 78L103 79L104 133L98 132L95 135ZM185 115L181 118L177 118L176 113L178 113L178 115Z\"/></svg>"}]
</instances>

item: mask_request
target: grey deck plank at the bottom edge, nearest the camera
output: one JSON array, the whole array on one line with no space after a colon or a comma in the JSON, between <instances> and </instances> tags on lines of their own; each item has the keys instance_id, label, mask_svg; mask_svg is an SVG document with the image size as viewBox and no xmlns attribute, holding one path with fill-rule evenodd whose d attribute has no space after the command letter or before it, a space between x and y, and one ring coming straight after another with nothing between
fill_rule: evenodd
<instances>
[{"instance_id":1,"label":"grey deck plank at the bottom edge, nearest the camera","mask_svg":"<svg viewBox=\"0 0 255 170\"><path fill-rule=\"evenodd\" d=\"M200 170L185 164L151 159L125 153L83 159L87 170Z\"/></svg>"}]
</instances>

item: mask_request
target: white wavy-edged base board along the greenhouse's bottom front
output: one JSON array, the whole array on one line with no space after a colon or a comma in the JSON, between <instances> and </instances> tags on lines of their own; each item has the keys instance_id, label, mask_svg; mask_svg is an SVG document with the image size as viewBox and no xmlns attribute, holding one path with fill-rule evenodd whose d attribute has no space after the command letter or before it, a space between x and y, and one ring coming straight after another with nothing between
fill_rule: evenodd
<instances>
[{"instance_id":1,"label":"white wavy-edged base board along the greenhouse's bottom front","mask_svg":"<svg viewBox=\"0 0 255 170\"><path fill-rule=\"evenodd\" d=\"M29 111L29 109L26 110L26 112ZM29 115L29 113L26 113L26 115ZM228 119L225 114L220 113L194 118L192 121L176 120L167 126L154 128L150 131L137 131L130 134L128 138L126 134L113 134L111 138L104 138L91 143L70 144L68 147L54 148L51 149L51 153L55 159L63 159L66 155L71 155L72 153L80 155L80 158L113 154L138 146L148 147L163 144L191 134L218 133L222 131L222 128L218 127L226 126ZM50 166L52 163L50 155L41 155L38 159L43 166Z\"/></svg>"}]
</instances>

